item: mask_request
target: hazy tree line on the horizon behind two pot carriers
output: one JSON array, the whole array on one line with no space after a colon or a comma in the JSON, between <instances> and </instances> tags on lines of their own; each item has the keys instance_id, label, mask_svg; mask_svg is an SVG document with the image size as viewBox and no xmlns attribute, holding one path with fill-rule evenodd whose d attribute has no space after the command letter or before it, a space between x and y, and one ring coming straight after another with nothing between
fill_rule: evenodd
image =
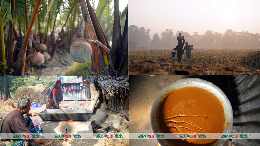
<instances>
[{"instance_id":1,"label":"hazy tree line on the horizon behind two pot carriers","mask_svg":"<svg viewBox=\"0 0 260 146\"><path fill-rule=\"evenodd\" d=\"M129 48L175 48L178 44L177 36L182 33L185 41L194 48L259 48L260 35L253 34L248 31L236 32L231 29L226 30L224 34L207 30L205 34L199 35L194 32L190 35L185 31L177 31L173 34L172 29L166 29L159 34L154 34L150 37L150 29L138 27L135 25L129 26Z\"/></svg>"}]
</instances>

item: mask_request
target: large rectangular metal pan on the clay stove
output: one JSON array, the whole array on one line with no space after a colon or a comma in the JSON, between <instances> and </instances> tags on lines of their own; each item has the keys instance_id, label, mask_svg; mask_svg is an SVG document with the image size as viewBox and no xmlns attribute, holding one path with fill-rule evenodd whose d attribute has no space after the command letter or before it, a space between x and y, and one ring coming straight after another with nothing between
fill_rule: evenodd
<instances>
[{"instance_id":1,"label":"large rectangular metal pan on the clay stove","mask_svg":"<svg viewBox=\"0 0 260 146\"><path fill-rule=\"evenodd\" d=\"M43 121L86 121L94 114L86 109L65 109L64 112L60 109L46 109L38 115Z\"/></svg>"}]
</instances>

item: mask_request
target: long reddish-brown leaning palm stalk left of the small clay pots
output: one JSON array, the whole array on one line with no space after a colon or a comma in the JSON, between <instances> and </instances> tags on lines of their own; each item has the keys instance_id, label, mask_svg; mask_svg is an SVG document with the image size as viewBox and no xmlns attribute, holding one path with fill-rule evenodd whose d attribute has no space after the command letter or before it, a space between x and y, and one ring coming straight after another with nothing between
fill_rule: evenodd
<instances>
[{"instance_id":1,"label":"long reddish-brown leaning palm stalk left of the small clay pots","mask_svg":"<svg viewBox=\"0 0 260 146\"><path fill-rule=\"evenodd\" d=\"M23 44L22 44L21 50L19 52L16 64L15 64L15 75L23 75L24 74L24 64L25 64L25 57L26 57L26 48L27 48L27 45L28 45L29 37L31 35L33 24L34 24L36 15L38 13L38 9L39 9L39 6L41 4L41 1L42 0L38 0L37 1L35 9L34 9L34 12L33 12L33 15L31 17L31 21L30 21L29 27L27 29L27 32L26 32L25 38L23 40Z\"/></svg>"}]
</instances>

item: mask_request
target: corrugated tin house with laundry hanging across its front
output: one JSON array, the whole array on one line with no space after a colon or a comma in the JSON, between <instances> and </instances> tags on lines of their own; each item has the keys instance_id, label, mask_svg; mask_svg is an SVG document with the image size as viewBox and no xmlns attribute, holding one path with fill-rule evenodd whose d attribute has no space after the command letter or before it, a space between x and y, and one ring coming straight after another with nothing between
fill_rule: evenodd
<instances>
[{"instance_id":1,"label":"corrugated tin house with laundry hanging across its front","mask_svg":"<svg viewBox=\"0 0 260 146\"><path fill-rule=\"evenodd\" d=\"M83 84L84 83L84 84ZM82 77L62 81L63 100L91 100L90 84L88 79L82 80ZM64 89L65 87L65 89ZM66 91L65 91L66 90Z\"/></svg>"}]
</instances>

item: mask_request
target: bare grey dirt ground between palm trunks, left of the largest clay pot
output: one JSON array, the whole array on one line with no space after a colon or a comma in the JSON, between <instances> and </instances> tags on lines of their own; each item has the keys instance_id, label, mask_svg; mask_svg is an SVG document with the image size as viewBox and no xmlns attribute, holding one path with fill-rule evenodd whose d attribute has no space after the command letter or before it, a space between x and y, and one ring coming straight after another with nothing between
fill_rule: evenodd
<instances>
[{"instance_id":1,"label":"bare grey dirt ground between palm trunks, left of the largest clay pot","mask_svg":"<svg viewBox=\"0 0 260 146\"><path fill-rule=\"evenodd\" d=\"M44 54L44 56L50 59L48 54ZM67 71L67 66L73 65L73 61L67 51L62 50L62 48L57 48L54 58L47 61L45 65L47 66L46 68L44 68L44 65L35 67L33 75L64 75Z\"/></svg>"}]
</instances>

